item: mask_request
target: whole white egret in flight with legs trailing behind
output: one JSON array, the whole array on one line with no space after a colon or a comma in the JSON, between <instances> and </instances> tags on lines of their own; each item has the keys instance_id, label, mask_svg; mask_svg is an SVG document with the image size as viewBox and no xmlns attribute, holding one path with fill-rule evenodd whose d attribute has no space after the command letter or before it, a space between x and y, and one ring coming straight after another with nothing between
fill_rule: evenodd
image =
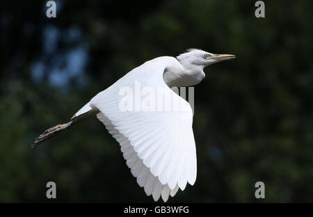
<instances>
[{"instance_id":1,"label":"whole white egret in flight with legs trailing behind","mask_svg":"<svg viewBox=\"0 0 313 217\"><path fill-rule=\"evenodd\" d=\"M161 56L147 61L95 95L70 122L44 131L31 147L95 116L120 143L138 185L154 201L161 197L166 202L179 188L184 191L187 182L193 185L197 174L193 112L188 102L171 88L194 86L204 79L204 67L232 58L235 56L231 54L188 49L176 58ZM168 97L155 97L159 90ZM147 95L149 100L138 103ZM163 104L168 104L168 109Z\"/></svg>"}]
</instances>

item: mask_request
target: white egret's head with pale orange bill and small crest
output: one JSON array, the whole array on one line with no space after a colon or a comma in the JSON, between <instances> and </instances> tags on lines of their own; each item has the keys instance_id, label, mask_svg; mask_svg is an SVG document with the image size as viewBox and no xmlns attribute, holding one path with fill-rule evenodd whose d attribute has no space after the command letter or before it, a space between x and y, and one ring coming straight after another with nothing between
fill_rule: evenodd
<instances>
[{"instance_id":1,"label":"white egret's head with pale orange bill and small crest","mask_svg":"<svg viewBox=\"0 0 313 217\"><path fill-rule=\"evenodd\" d=\"M186 53L177 56L177 60L186 68L195 66L204 68L213 63L230 60L235 57L232 54L211 54L201 49L188 49Z\"/></svg>"}]
</instances>

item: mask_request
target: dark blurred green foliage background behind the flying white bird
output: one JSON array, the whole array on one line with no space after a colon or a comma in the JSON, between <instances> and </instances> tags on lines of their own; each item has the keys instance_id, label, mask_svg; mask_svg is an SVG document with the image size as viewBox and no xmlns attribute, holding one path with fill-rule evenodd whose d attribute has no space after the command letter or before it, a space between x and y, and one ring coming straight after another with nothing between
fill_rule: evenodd
<instances>
[{"instance_id":1,"label":"dark blurred green foliage background behind the flying white bird","mask_svg":"<svg viewBox=\"0 0 313 217\"><path fill-rule=\"evenodd\" d=\"M189 47L237 58L195 86L198 178L170 202L313 202L313 1L266 1L264 19L255 1L57 1L52 19L45 2L1 2L0 202L50 202L49 181L54 202L152 202L96 119L29 146L132 68ZM78 64L66 61L77 46L83 72L51 83L51 68Z\"/></svg>"}]
</instances>

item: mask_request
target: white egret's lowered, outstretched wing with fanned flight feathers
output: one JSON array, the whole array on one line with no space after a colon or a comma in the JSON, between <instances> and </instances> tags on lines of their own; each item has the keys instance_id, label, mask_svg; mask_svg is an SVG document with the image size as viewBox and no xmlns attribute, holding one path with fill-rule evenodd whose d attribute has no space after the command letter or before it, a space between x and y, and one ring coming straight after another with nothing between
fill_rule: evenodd
<instances>
[{"instance_id":1,"label":"white egret's lowered, outstretched wing with fanned flight feathers","mask_svg":"<svg viewBox=\"0 0 313 217\"><path fill-rule=\"evenodd\" d=\"M164 83L163 71L168 66L181 67L171 57L148 61L96 95L89 104L99 109L97 118L120 143L127 166L139 186L155 201L161 196L164 202L179 188L184 190L187 182L193 185L197 170L193 113L188 102ZM150 90L150 99L155 99L156 105L150 105L150 109L142 107L146 99L144 88ZM121 95L124 93L121 90L131 90L132 96ZM157 100L159 96L153 98L159 90L168 97L168 109L157 107L164 102ZM125 97L133 97L135 101L127 111L122 109ZM150 104L153 103L150 101Z\"/></svg>"}]
</instances>

